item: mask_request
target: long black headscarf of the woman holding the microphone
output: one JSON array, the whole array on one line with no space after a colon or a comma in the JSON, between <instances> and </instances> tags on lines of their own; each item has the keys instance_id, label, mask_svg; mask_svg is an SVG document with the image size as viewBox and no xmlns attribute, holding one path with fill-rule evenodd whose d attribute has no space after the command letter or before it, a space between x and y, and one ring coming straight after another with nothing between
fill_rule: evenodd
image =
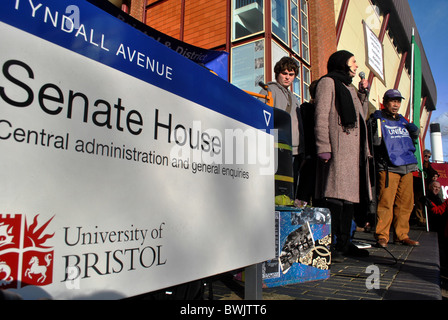
<instances>
[{"instance_id":1,"label":"long black headscarf of the woman holding the microphone","mask_svg":"<svg viewBox=\"0 0 448 320\"><path fill-rule=\"evenodd\" d=\"M347 64L352 56L353 54L346 50L333 53L328 59L328 74L324 76L334 80L336 100L339 102L336 105L339 106L338 112L341 117L341 124L346 129L354 128L357 121L352 95L344 86L344 84L348 86L352 83L352 77L349 73L350 68Z\"/></svg>"}]
</instances>

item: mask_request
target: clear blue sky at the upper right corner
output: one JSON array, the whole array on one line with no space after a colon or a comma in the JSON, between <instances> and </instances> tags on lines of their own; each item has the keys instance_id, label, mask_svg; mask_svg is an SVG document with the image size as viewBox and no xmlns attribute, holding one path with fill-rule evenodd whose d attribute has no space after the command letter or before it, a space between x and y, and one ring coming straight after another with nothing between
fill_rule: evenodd
<instances>
[{"instance_id":1,"label":"clear blue sky at the upper right corner","mask_svg":"<svg viewBox=\"0 0 448 320\"><path fill-rule=\"evenodd\" d=\"M440 123L444 161L448 162L448 17L447 0L408 0L437 87L431 123ZM425 147L431 149L430 132Z\"/></svg>"}]
</instances>

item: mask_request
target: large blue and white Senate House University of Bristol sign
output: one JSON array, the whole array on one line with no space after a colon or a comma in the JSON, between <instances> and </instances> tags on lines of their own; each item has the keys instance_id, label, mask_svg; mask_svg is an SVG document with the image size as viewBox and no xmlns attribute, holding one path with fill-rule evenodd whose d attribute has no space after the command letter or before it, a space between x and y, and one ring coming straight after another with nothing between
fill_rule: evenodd
<instances>
[{"instance_id":1,"label":"large blue and white Senate House University of Bristol sign","mask_svg":"<svg viewBox=\"0 0 448 320\"><path fill-rule=\"evenodd\" d=\"M269 107L86 1L2 1L0 42L0 289L118 299L275 256Z\"/></svg>"}]
</instances>

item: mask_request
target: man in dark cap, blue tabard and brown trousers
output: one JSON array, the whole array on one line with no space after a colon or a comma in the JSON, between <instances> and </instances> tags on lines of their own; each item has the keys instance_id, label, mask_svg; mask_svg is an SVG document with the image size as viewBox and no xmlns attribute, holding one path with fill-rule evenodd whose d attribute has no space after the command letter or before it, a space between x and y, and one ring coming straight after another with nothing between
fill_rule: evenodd
<instances>
[{"instance_id":1,"label":"man in dark cap, blue tabard and brown trousers","mask_svg":"<svg viewBox=\"0 0 448 320\"><path fill-rule=\"evenodd\" d=\"M394 227L394 241L419 245L409 238L409 218L414 206L413 172L417 171L414 141L420 129L407 121L399 110L404 99L396 89L387 90L383 110L375 111L372 124L375 160L378 168L378 205L375 238L377 246L386 247L389 230Z\"/></svg>"}]
</instances>

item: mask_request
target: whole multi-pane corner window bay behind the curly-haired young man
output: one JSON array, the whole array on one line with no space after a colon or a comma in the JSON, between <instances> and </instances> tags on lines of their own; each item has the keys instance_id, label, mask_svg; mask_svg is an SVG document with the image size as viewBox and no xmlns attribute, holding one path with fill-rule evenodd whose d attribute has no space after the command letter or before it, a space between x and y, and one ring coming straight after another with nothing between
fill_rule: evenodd
<instances>
[{"instance_id":1,"label":"whole multi-pane corner window bay behind the curly-haired young man","mask_svg":"<svg viewBox=\"0 0 448 320\"><path fill-rule=\"evenodd\" d=\"M307 0L270 0L272 9L271 52L265 52L263 35L263 0L232 0L232 40L254 36L257 40L235 46L231 49L231 82L242 90L259 92L260 81L275 81L265 77L265 55L275 64L284 56L297 57L299 72L291 86L299 103L311 99L309 86L309 17ZM248 39L247 39L248 40ZM251 41L251 40L248 40ZM270 73L270 72L269 72Z\"/></svg>"}]
</instances>

